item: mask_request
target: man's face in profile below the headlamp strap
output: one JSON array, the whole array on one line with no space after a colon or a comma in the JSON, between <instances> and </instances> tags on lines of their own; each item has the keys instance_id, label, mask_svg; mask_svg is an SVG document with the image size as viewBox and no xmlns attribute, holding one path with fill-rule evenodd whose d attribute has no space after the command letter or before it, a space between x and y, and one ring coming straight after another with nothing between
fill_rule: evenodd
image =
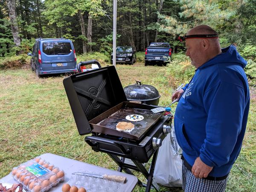
<instances>
[{"instance_id":1,"label":"man's face in profile below the headlamp strap","mask_svg":"<svg viewBox=\"0 0 256 192\"><path fill-rule=\"evenodd\" d=\"M195 68L205 63L201 39L186 39L186 47L186 55L189 56L191 64L195 66Z\"/></svg>"}]
</instances>

